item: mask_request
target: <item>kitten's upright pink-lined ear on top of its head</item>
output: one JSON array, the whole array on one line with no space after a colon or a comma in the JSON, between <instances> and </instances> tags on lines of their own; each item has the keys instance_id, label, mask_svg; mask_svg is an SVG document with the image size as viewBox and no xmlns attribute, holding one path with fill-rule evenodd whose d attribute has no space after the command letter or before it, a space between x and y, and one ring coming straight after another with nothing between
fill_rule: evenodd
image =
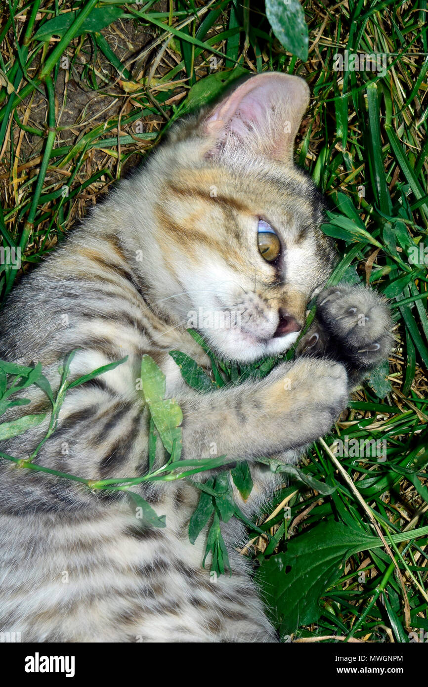
<instances>
[{"instance_id":1,"label":"kitten's upright pink-lined ear on top of its head","mask_svg":"<svg viewBox=\"0 0 428 687\"><path fill-rule=\"evenodd\" d=\"M204 120L210 151L242 146L278 161L293 159L295 135L309 102L309 88L298 76L267 72L247 79Z\"/></svg>"}]
</instances>

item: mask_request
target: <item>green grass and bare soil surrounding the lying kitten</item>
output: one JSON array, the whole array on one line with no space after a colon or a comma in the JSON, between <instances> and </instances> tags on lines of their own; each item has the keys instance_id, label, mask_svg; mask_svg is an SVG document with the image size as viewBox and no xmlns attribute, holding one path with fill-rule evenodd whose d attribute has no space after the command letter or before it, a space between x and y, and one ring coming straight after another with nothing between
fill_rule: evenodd
<instances>
[{"instance_id":1,"label":"green grass and bare soil surrounding the lying kitten","mask_svg":"<svg viewBox=\"0 0 428 687\"><path fill-rule=\"evenodd\" d=\"M104 27L98 19L88 32L83 21L95 5L104 8ZM260 513L266 536L249 526L254 544L244 553L261 564L267 588L275 581L271 613L284 637L405 642L409 631L428 631L427 3L359 0L349 8L304 3L303 63L273 36L264 6L247 0L10 0L0 30L0 232L4 247L21 247L23 272L32 269L177 117L225 80L265 69L306 78L313 98L297 161L330 199L324 229L341 256L333 282L369 283L390 299L396 348L389 370L355 392L325 444L308 452L301 480L284 484ZM66 24L72 9L78 14ZM55 17L60 39L49 40ZM385 53L386 73L335 71L333 56L346 49ZM20 273L0 270L4 299ZM341 458L353 487L328 451L344 436L387 440L385 461ZM326 493L309 486L311 477ZM299 560L317 555L319 569L304 578ZM278 578L282 563L293 583ZM293 616L291 602L305 596Z\"/></svg>"}]
</instances>

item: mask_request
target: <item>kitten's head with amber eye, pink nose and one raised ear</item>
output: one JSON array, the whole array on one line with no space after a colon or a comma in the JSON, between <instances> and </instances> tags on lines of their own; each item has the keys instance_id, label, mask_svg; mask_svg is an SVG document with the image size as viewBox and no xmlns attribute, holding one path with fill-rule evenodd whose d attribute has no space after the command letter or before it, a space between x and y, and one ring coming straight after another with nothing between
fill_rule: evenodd
<instances>
[{"instance_id":1,"label":"kitten's head with amber eye, pink nose and one raised ear","mask_svg":"<svg viewBox=\"0 0 428 687\"><path fill-rule=\"evenodd\" d=\"M322 196L293 164L308 100L295 76L249 78L179 124L146 170L151 300L229 360L289 348L335 259Z\"/></svg>"}]
</instances>

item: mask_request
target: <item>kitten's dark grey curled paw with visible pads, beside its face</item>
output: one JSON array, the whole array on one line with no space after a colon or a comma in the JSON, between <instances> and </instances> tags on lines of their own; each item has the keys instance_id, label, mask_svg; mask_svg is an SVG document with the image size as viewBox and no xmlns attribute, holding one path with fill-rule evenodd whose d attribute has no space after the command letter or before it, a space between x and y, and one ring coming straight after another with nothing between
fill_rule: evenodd
<instances>
[{"instance_id":1,"label":"kitten's dark grey curled paw with visible pads, beside its face","mask_svg":"<svg viewBox=\"0 0 428 687\"><path fill-rule=\"evenodd\" d=\"M385 300L363 286L339 284L319 294L316 319L300 353L324 354L363 373L388 357L392 321Z\"/></svg>"}]
</instances>

